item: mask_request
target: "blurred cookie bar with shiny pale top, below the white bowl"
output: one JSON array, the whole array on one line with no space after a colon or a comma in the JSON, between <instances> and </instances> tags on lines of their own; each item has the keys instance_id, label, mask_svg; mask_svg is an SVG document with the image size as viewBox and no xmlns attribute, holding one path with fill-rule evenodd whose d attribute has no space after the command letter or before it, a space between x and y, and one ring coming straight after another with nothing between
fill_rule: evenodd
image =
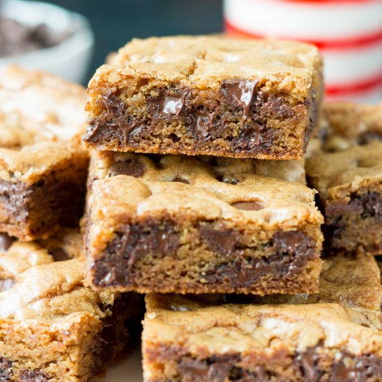
<instances>
[{"instance_id":1,"label":"blurred cookie bar with shiny pale top, below the white bowl","mask_svg":"<svg viewBox=\"0 0 382 382\"><path fill-rule=\"evenodd\" d=\"M0 232L33 240L78 223L84 104L83 88L50 74L10 67L0 75Z\"/></svg>"}]
</instances>

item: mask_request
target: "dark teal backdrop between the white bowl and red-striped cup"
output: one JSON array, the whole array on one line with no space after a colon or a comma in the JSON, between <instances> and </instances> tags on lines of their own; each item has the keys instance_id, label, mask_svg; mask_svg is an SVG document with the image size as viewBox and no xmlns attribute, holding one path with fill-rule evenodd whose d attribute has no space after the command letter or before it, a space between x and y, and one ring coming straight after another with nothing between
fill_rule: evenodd
<instances>
[{"instance_id":1,"label":"dark teal backdrop between the white bowl and red-striped cup","mask_svg":"<svg viewBox=\"0 0 382 382\"><path fill-rule=\"evenodd\" d=\"M133 37L222 31L222 0L50 0L88 17L96 46L90 78L110 51Z\"/></svg>"}]
</instances>

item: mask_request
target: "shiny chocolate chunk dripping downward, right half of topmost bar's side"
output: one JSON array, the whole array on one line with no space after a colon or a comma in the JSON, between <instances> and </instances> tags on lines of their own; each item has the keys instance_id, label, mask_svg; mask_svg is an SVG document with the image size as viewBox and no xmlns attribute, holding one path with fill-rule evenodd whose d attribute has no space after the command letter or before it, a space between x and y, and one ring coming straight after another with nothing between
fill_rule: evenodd
<instances>
[{"instance_id":1,"label":"shiny chocolate chunk dripping downward, right half of topmost bar's side","mask_svg":"<svg viewBox=\"0 0 382 382\"><path fill-rule=\"evenodd\" d=\"M235 108L243 109L242 122L244 123L249 117L249 108L254 99L254 92L257 80L239 80L239 81L223 81L220 92L227 102L232 103Z\"/></svg>"}]
</instances>

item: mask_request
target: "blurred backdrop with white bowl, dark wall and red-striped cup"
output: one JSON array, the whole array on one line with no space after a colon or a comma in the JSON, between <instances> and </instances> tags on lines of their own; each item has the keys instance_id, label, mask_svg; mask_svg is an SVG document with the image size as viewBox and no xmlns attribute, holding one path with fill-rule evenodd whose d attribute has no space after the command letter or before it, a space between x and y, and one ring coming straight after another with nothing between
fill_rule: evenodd
<instances>
[{"instance_id":1,"label":"blurred backdrop with white bowl, dark wall and red-striped cup","mask_svg":"<svg viewBox=\"0 0 382 382\"><path fill-rule=\"evenodd\" d=\"M326 99L382 99L382 0L0 0L0 67L86 85L131 38L221 33L316 44Z\"/></svg>"}]
</instances>

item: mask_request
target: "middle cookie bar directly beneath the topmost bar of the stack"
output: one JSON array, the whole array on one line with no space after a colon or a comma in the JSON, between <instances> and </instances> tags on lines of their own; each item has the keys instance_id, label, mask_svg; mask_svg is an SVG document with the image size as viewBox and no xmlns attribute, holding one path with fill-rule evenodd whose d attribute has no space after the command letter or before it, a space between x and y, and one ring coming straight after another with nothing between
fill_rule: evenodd
<instances>
[{"instance_id":1,"label":"middle cookie bar directly beneath the topmost bar of the stack","mask_svg":"<svg viewBox=\"0 0 382 382\"><path fill-rule=\"evenodd\" d=\"M92 288L317 292L322 215L302 160L92 155Z\"/></svg>"}]
</instances>

